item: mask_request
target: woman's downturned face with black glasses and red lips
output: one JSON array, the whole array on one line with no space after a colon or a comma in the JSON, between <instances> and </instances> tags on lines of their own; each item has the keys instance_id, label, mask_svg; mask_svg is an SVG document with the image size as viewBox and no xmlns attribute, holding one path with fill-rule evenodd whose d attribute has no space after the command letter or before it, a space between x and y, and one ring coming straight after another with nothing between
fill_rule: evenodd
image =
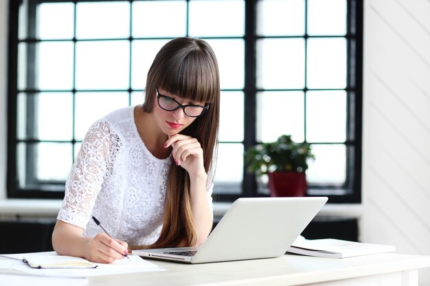
<instances>
[{"instance_id":1,"label":"woman's downturned face with black glasses and red lips","mask_svg":"<svg viewBox=\"0 0 430 286\"><path fill-rule=\"evenodd\" d=\"M188 99L183 99L181 97L177 97L176 95L173 95L171 93L168 93L167 91L164 91L163 88L159 88L159 95L163 97L163 100L165 102L167 101L170 106L176 107L177 104L175 104L172 100L174 99L177 102L179 102L182 105L188 105L188 104L195 104L199 106L204 106L204 103L202 102L191 102ZM172 108L168 108L172 109ZM172 136L174 134L177 134L190 126L191 123L196 120L197 117L189 117L188 115L185 115L183 112L183 108L178 108L177 110L173 111L167 111L164 110L159 106L159 101L157 98L155 98L154 102L154 115L155 119L157 120L157 123L161 130L169 135Z\"/></svg>"}]
</instances>

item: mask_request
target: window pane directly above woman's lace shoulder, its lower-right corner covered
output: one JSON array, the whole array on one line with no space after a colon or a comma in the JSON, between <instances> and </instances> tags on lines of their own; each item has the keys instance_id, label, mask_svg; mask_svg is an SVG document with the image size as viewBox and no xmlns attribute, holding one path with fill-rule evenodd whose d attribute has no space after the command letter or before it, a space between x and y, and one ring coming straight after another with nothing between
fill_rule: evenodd
<instances>
[{"instance_id":1,"label":"window pane directly above woman's lace shoulder, its lower-right corner covered","mask_svg":"<svg viewBox=\"0 0 430 286\"><path fill-rule=\"evenodd\" d=\"M128 93L92 92L76 93L75 138L82 141L94 121L109 112L128 106Z\"/></svg>"}]
</instances>

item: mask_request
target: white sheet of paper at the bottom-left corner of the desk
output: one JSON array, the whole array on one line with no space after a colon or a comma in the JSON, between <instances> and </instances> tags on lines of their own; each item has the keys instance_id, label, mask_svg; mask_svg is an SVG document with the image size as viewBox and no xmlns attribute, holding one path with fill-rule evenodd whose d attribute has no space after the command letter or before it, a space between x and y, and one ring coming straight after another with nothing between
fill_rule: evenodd
<instances>
[{"instance_id":1,"label":"white sheet of paper at the bottom-left corner of the desk","mask_svg":"<svg viewBox=\"0 0 430 286\"><path fill-rule=\"evenodd\" d=\"M83 286L87 285L88 283L88 278L64 278L0 274L0 286Z\"/></svg>"}]
</instances>

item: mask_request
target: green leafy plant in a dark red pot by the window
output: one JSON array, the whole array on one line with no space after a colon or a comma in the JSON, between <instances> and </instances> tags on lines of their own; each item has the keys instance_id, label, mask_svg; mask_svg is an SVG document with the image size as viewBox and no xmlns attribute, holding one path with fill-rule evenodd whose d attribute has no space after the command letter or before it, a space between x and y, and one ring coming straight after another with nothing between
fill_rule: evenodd
<instances>
[{"instance_id":1,"label":"green leafy plant in a dark red pot by the window","mask_svg":"<svg viewBox=\"0 0 430 286\"><path fill-rule=\"evenodd\" d=\"M304 196L308 184L308 160L315 159L308 143L296 143L291 135L282 135L275 142L260 143L245 151L247 170L257 176L269 176L273 197Z\"/></svg>"}]
</instances>

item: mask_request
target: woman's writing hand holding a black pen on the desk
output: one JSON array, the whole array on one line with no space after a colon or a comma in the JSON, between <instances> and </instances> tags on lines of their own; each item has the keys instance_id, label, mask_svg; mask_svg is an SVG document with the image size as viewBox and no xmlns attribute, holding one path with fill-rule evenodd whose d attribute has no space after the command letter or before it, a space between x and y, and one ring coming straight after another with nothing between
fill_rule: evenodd
<instances>
[{"instance_id":1,"label":"woman's writing hand holding a black pen on the desk","mask_svg":"<svg viewBox=\"0 0 430 286\"><path fill-rule=\"evenodd\" d=\"M112 263L117 259L124 259L124 255L128 254L127 248L126 242L99 233L90 243L91 260L100 263Z\"/></svg>"}]
</instances>

